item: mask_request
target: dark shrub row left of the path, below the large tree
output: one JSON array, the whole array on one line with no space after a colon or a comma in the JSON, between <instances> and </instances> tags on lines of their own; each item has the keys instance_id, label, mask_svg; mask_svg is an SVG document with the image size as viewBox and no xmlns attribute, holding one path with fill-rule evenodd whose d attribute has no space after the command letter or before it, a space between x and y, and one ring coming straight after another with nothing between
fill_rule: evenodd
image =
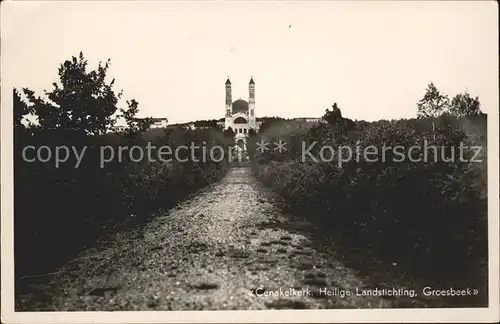
<instances>
[{"instance_id":1,"label":"dark shrub row left of the path, below the large tree","mask_svg":"<svg viewBox=\"0 0 500 324\"><path fill-rule=\"evenodd\" d=\"M158 133L155 129L154 132ZM174 129L146 132L142 137L119 134L72 138L56 131L35 135L17 134L15 139L15 255L16 275L48 271L105 233L143 223L150 215L173 206L196 190L219 180L227 163L131 161L124 157L100 167L100 149L147 143L161 146L188 145L191 141L207 147L227 146L216 129ZM88 149L82 163L67 161L28 163L21 156L27 145L83 146ZM198 150L199 151L199 150ZM199 153L199 152L198 152ZM198 154L197 153L197 154ZM200 161L203 161L200 159Z\"/></svg>"}]
</instances>

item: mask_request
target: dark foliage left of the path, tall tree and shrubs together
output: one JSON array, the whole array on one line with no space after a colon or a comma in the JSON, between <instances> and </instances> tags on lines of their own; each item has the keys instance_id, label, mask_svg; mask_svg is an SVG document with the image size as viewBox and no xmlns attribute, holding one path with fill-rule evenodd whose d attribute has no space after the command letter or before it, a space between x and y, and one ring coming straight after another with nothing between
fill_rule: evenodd
<instances>
[{"instance_id":1,"label":"dark foliage left of the path, tall tree and shrubs together","mask_svg":"<svg viewBox=\"0 0 500 324\"><path fill-rule=\"evenodd\" d=\"M171 207L227 171L227 163L204 160L201 150L184 163L168 161L172 156L160 160L158 148L163 145L175 150L191 142L206 143L209 151L231 143L217 129L147 130L151 120L135 118L137 101L118 108L120 94L113 81L106 81L108 66L88 71L80 53L61 65L60 82L45 97L29 89L14 90L16 277L52 270L98 237L144 223L153 212ZM128 125L123 134L109 132L117 113ZM64 146L71 154L58 166L54 160L28 162L23 158L28 146L45 146L53 153ZM132 146L143 149L142 160L130 150L120 157L119 147ZM153 148L151 160L148 147ZM73 152L84 149L76 167ZM33 148L24 153L27 159L35 157ZM102 163L102 157L109 162Z\"/></svg>"}]
</instances>

